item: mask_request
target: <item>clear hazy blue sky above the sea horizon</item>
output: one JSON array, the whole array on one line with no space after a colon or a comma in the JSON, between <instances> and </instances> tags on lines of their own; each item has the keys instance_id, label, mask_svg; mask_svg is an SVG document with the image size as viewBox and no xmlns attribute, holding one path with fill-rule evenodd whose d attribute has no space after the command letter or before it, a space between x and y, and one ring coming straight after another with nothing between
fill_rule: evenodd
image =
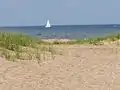
<instances>
[{"instance_id":1,"label":"clear hazy blue sky above the sea horizon","mask_svg":"<svg viewBox=\"0 0 120 90\"><path fill-rule=\"evenodd\" d=\"M120 0L0 0L0 26L120 24Z\"/></svg>"}]
</instances>

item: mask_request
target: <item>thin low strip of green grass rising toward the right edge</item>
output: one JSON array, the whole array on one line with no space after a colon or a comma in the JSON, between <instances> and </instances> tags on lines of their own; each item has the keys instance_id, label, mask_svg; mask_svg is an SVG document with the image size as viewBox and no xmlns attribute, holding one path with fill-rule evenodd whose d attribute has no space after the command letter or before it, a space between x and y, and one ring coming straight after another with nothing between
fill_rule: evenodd
<instances>
[{"instance_id":1,"label":"thin low strip of green grass rising toward the right edge","mask_svg":"<svg viewBox=\"0 0 120 90\"><path fill-rule=\"evenodd\" d=\"M117 41L120 39L120 33L109 34L104 37L91 37L87 39L78 39L70 41L59 41L56 40L53 44L92 44L92 45L103 45L104 42Z\"/></svg>"}]
</instances>

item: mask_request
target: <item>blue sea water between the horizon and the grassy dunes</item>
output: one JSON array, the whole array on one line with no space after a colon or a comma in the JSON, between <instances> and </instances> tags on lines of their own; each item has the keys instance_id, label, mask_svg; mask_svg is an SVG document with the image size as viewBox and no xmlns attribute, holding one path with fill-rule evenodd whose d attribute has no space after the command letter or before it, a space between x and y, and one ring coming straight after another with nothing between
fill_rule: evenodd
<instances>
[{"instance_id":1,"label":"blue sea water between the horizon and the grassy dunes","mask_svg":"<svg viewBox=\"0 0 120 90\"><path fill-rule=\"evenodd\" d=\"M39 38L80 39L120 32L120 25L61 25L51 28L44 26L0 27L0 31L22 32Z\"/></svg>"}]
</instances>

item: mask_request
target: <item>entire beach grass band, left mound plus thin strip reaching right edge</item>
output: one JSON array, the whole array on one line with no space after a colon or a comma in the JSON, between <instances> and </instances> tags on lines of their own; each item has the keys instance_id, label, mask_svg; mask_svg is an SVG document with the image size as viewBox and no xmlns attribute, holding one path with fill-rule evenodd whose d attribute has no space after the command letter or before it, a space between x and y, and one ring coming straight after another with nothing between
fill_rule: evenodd
<instances>
[{"instance_id":1,"label":"entire beach grass band, left mound plus thin strip reaching right edge","mask_svg":"<svg viewBox=\"0 0 120 90\"><path fill-rule=\"evenodd\" d=\"M91 37L79 40L58 40L47 42L42 39L33 38L22 33L0 32L0 55L7 60L42 60L54 59L57 50L55 45L92 44L103 45L104 42L117 41L120 33L105 37Z\"/></svg>"}]
</instances>

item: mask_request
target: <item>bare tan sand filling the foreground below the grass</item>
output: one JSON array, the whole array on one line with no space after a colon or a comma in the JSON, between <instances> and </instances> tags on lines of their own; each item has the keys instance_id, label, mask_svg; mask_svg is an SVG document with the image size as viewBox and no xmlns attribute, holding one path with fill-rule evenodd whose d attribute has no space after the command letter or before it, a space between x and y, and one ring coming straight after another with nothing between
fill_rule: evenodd
<instances>
[{"instance_id":1,"label":"bare tan sand filling the foreground below the grass","mask_svg":"<svg viewBox=\"0 0 120 90\"><path fill-rule=\"evenodd\" d=\"M120 52L113 45L58 45L40 64L0 58L1 90L120 90Z\"/></svg>"}]
</instances>

